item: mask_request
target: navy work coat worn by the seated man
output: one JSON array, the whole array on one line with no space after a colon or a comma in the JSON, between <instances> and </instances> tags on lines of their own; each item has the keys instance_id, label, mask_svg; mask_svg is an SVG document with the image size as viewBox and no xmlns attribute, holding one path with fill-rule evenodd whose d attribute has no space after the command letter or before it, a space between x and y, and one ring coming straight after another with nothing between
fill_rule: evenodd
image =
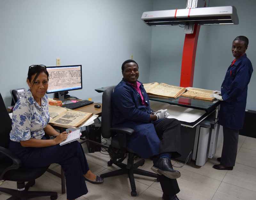
<instances>
[{"instance_id":1,"label":"navy work coat worn by the seated man","mask_svg":"<svg viewBox=\"0 0 256 200\"><path fill-rule=\"evenodd\" d=\"M149 114L154 111L149 107L149 99L142 83L140 90L147 106L142 104L140 94L124 79L112 91L113 106L112 126L132 128L135 132L126 136L126 145L142 158L159 154L160 140L154 124L149 121ZM153 123L158 123L156 120Z\"/></svg>"}]
</instances>

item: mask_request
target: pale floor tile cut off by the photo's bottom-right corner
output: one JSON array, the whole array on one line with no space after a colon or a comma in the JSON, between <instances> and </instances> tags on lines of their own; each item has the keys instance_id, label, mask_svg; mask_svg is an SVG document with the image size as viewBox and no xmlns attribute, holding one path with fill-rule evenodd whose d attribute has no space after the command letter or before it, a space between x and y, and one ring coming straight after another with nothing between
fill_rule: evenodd
<instances>
[{"instance_id":1,"label":"pale floor tile cut off by the photo's bottom-right corner","mask_svg":"<svg viewBox=\"0 0 256 200\"><path fill-rule=\"evenodd\" d=\"M255 196L254 191L222 182L212 200L253 200Z\"/></svg>"}]
</instances>

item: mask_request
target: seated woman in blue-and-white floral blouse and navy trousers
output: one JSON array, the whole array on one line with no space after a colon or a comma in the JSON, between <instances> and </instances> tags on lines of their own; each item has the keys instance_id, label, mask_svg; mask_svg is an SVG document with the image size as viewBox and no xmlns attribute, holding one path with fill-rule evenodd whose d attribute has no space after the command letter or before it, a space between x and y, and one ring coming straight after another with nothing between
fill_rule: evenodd
<instances>
[{"instance_id":1,"label":"seated woman in blue-and-white floral blouse and navy trousers","mask_svg":"<svg viewBox=\"0 0 256 200\"><path fill-rule=\"evenodd\" d=\"M28 92L14 106L9 150L22 161L24 168L40 168L58 163L65 171L67 199L76 199L88 190L85 180L93 184L103 182L88 166L83 147L78 141L60 146L67 132L58 133L49 125L49 74L44 65L29 67ZM46 139L45 134L57 137Z\"/></svg>"}]
</instances>

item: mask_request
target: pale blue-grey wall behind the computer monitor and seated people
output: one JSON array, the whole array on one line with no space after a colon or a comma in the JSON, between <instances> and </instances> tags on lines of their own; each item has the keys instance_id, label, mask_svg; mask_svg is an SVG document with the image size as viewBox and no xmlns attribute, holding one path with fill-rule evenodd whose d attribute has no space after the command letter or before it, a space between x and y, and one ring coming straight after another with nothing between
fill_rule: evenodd
<instances>
[{"instance_id":1,"label":"pale blue-grey wall behind the computer monitor and seated people","mask_svg":"<svg viewBox=\"0 0 256 200\"><path fill-rule=\"evenodd\" d=\"M28 66L82 64L82 90L69 92L101 102L95 88L122 79L121 65L140 63L140 81L149 82L152 28L142 12L153 0L0 0L0 92L11 104L10 89L28 89ZM50 97L53 95L50 94Z\"/></svg>"}]
</instances>

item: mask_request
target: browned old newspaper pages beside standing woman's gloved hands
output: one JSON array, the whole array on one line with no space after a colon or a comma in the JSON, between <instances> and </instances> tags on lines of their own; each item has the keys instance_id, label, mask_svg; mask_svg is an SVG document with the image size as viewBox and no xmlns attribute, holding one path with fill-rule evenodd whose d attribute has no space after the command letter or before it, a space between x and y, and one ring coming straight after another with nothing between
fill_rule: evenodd
<instances>
[{"instance_id":1,"label":"browned old newspaper pages beside standing woman's gloved hands","mask_svg":"<svg viewBox=\"0 0 256 200\"><path fill-rule=\"evenodd\" d=\"M215 98L210 97L210 94L212 94L212 92L213 92L213 90L190 88L189 91L185 92L181 96L212 101L215 99Z\"/></svg>"}]
</instances>

